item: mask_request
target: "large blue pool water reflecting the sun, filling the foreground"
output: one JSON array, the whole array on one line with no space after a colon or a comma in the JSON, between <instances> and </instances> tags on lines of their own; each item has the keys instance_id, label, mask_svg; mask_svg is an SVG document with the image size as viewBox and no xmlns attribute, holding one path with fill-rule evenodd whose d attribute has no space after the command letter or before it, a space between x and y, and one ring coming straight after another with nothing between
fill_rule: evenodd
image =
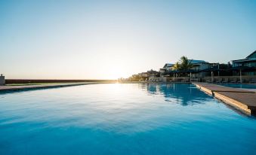
<instances>
[{"instance_id":1,"label":"large blue pool water reflecting the sun, filling the foreground","mask_svg":"<svg viewBox=\"0 0 256 155\"><path fill-rule=\"evenodd\" d=\"M0 94L0 154L253 154L256 119L191 84Z\"/></svg>"}]
</instances>

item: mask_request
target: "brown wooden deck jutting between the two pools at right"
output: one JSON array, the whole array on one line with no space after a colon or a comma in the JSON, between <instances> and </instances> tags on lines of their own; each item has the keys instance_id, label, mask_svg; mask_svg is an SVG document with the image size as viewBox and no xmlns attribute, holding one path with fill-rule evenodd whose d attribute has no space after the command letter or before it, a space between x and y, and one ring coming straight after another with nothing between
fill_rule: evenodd
<instances>
[{"instance_id":1,"label":"brown wooden deck jutting between the two pools at right","mask_svg":"<svg viewBox=\"0 0 256 155\"><path fill-rule=\"evenodd\" d=\"M256 93L251 90L242 90L239 88L231 88L219 86L216 84L193 83L200 90L220 99L246 114L256 114Z\"/></svg>"}]
</instances>

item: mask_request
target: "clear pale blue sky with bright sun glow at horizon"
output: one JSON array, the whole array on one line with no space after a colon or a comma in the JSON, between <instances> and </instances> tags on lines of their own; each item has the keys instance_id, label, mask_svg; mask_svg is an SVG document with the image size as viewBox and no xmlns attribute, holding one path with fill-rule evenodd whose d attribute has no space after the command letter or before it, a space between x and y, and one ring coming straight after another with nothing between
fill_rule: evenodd
<instances>
[{"instance_id":1,"label":"clear pale blue sky with bright sun glow at horizon","mask_svg":"<svg viewBox=\"0 0 256 155\"><path fill-rule=\"evenodd\" d=\"M256 1L0 1L0 74L113 79L256 50Z\"/></svg>"}]
</instances>

